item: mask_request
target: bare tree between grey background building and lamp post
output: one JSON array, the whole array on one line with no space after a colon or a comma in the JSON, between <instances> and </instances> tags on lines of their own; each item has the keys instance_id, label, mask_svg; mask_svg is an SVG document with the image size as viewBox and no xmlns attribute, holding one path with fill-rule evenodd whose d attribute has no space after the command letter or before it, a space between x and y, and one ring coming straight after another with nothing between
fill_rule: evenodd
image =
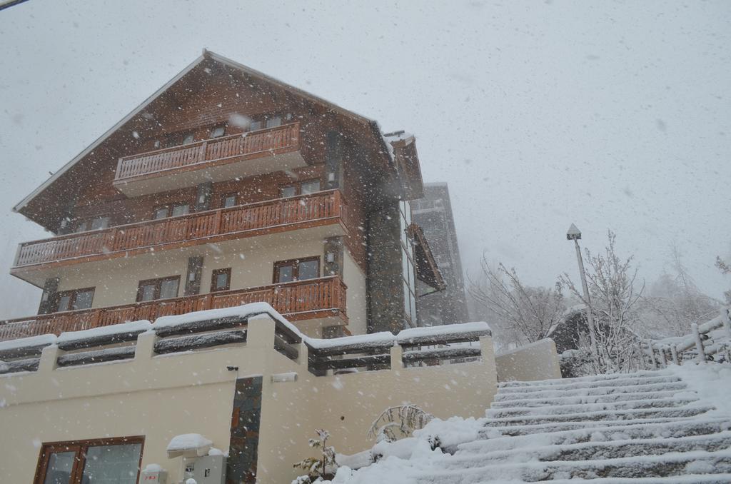
<instances>
[{"instance_id":1,"label":"bare tree between grey background building and lamp post","mask_svg":"<svg viewBox=\"0 0 731 484\"><path fill-rule=\"evenodd\" d=\"M495 315L502 336L510 344L532 343L548 336L566 310L561 287L529 287L515 268L491 268L482 257L482 284L471 281L469 292L480 306Z\"/></svg>"}]
</instances>

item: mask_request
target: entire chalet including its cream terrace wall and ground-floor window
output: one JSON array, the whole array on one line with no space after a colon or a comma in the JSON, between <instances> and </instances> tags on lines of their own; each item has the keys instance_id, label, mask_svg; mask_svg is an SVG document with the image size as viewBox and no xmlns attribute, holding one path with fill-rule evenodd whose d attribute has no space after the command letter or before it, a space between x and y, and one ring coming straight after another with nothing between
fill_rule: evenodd
<instances>
[{"instance_id":1,"label":"entire chalet including its cream terrace wall and ground-floor window","mask_svg":"<svg viewBox=\"0 0 731 484\"><path fill-rule=\"evenodd\" d=\"M15 207L54 236L11 269L43 295L0 322L0 480L289 483L316 428L355 454L558 377L553 341L412 328L423 195L413 136L204 51Z\"/></svg>"}]
</instances>

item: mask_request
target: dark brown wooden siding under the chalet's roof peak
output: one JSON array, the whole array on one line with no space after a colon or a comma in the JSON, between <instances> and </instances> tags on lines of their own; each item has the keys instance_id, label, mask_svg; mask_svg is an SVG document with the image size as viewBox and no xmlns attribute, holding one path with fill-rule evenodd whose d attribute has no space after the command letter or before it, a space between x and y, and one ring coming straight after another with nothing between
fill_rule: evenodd
<instances>
[{"instance_id":1,"label":"dark brown wooden siding under the chalet's roof peak","mask_svg":"<svg viewBox=\"0 0 731 484\"><path fill-rule=\"evenodd\" d=\"M372 163L371 173L387 173L393 168L385 163L382 140L371 122L336 112L296 90L207 58L105 137L19 211L56 232L73 207L124 198L111 184L121 156L150 151L164 133L191 127L197 129L198 137L207 137L212 126L228 121L232 113L258 116L271 112L295 116L292 121L298 121L303 132L303 158L312 165L322 162L325 133L334 129L360 143L363 159ZM228 132L234 133L235 126Z\"/></svg>"}]
</instances>

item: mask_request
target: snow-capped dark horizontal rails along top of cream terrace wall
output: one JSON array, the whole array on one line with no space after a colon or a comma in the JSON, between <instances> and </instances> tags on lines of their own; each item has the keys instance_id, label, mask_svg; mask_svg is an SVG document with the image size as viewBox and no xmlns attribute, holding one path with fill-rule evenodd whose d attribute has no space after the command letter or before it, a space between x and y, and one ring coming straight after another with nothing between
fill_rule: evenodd
<instances>
[{"instance_id":1,"label":"snow-capped dark horizontal rails along top of cream terrace wall","mask_svg":"<svg viewBox=\"0 0 731 484\"><path fill-rule=\"evenodd\" d=\"M196 311L162 317L154 324L148 321L128 322L106 328L42 335L0 343L0 374L36 371L45 348L58 353L58 367L84 366L132 360L137 353L137 339L154 333L153 355L190 352L222 345L243 344L248 340L249 319L265 315L273 321L273 349L290 360L298 361L306 352L307 368L316 376L330 370L366 371L399 368L424 363L428 366L459 363L460 358L480 357L481 347L439 347L465 344L490 336L485 323L467 323L444 327L405 330L404 336L374 333L336 339L314 339L304 336L267 303L252 303L235 308ZM482 342L481 342L482 345ZM418 348L418 349L414 349ZM406 350L406 351L404 351ZM394 363L396 362L396 363Z\"/></svg>"}]
</instances>

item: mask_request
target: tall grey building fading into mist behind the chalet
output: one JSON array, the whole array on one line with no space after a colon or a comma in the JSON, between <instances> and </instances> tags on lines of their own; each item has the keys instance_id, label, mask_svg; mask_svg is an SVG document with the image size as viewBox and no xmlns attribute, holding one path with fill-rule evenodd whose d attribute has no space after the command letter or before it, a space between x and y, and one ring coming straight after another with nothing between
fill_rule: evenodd
<instances>
[{"instance_id":1,"label":"tall grey building fading into mist behind the chalet","mask_svg":"<svg viewBox=\"0 0 731 484\"><path fill-rule=\"evenodd\" d=\"M462 261L452 215L450 191L445 183L424 184L424 196L412 201L414 227L429 241L444 290L417 280L420 326L450 325L469 321Z\"/></svg>"}]
</instances>

